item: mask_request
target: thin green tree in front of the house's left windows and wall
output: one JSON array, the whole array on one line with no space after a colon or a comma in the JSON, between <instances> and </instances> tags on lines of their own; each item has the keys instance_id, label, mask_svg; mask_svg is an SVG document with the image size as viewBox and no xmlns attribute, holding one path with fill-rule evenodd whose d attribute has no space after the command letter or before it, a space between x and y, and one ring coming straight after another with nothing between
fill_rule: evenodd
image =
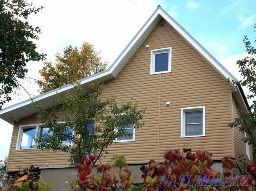
<instances>
[{"instance_id":1,"label":"thin green tree in front of the house's left windows and wall","mask_svg":"<svg viewBox=\"0 0 256 191\"><path fill-rule=\"evenodd\" d=\"M74 92L62 94L60 111L56 107L47 111L35 105L37 117L46 128L36 136L37 148L69 151L69 161L73 164L80 162L84 155L94 154L97 156L95 164L116 138L131 136L125 132L128 125L133 124L134 128L144 125L139 120L145 110L137 110L136 103L122 103L118 107L113 97L102 96L103 85L91 88L92 92L85 95L78 84Z\"/></svg>"}]
</instances>

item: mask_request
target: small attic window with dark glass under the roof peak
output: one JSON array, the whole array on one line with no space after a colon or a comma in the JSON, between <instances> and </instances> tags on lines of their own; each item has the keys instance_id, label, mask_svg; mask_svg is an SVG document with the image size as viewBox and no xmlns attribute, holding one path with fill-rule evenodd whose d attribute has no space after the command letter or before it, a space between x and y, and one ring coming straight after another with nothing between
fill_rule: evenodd
<instances>
[{"instance_id":1,"label":"small attic window with dark glass under the roof peak","mask_svg":"<svg viewBox=\"0 0 256 191\"><path fill-rule=\"evenodd\" d=\"M151 50L150 74L171 72L172 48L161 48Z\"/></svg>"}]
</instances>

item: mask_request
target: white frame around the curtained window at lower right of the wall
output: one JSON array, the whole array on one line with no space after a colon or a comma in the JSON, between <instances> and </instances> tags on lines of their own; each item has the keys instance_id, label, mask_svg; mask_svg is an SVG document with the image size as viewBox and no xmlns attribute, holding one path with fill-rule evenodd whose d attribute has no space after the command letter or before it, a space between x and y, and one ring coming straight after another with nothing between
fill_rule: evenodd
<instances>
[{"instance_id":1,"label":"white frame around the curtained window at lower right of the wall","mask_svg":"<svg viewBox=\"0 0 256 191\"><path fill-rule=\"evenodd\" d=\"M181 138L187 138L187 137L205 137L205 107L204 106L198 106L198 107L185 107L181 108L181 132L180 137ZM203 111L203 135L191 135L191 136L185 136L185 112L189 111Z\"/></svg>"}]
</instances>

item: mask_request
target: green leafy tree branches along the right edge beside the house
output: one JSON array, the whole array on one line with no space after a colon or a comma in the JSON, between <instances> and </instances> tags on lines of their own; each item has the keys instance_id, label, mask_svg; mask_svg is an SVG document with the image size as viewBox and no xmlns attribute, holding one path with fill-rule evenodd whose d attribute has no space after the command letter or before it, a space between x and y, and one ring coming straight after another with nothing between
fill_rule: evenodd
<instances>
[{"instance_id":1,"label":"green leafy tree branches along the right edge beside the house","mask_svg":"<svg viewBox=\"0 0 256 191\"><path fill-rule=\"evenodd\" d=\"M256 29L256 24L254 24ZM255 32L255 30L254 30ZM251 45L248 37L245 35L243 42L246 47L248 55L244 59L238 60L237 65L239 72L243 76L243 80L232 81L233 84L238 86L246 86L250 94L247 95L247 99L254 99L256 97L256 48ZM256 40L254 41L256 43ZM248 142L253 148L253 160L256 159L256 137L253 136L253 132L256 128L256 101L248 108L248 111L238 110L240 118L236 118L233 123L229 124L231 128L236 127L240 132L246 134L243 138L243 142Z\"/></svg>"}]
</instances>

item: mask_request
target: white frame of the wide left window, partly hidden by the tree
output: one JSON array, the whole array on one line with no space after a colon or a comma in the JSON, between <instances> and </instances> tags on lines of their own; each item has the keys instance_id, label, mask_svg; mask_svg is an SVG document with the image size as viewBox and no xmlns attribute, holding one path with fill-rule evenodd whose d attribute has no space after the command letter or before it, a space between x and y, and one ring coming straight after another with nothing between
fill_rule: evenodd
<instances>
[{"instance_id":1,"label":"white frame of the wide left window, partly hidden by the tree","mask_svg":"<svg viewBox=\"0 0 256 191\"><path fill-rule=\"evenodd\" d=\"M57 123L65 123L65 122L60 121L60 122L57 122ZM35 134L35 138L36 138L37 134L41 133L41 127L45 127L45 125L43 125L42 123L40 123L40 124L37 123L37 124L29 124L29 125L20 125L19 126L18 139L17 139L17 143L16 143L16 150L36 149L36 148L20 148L23 129L27 129L27 128L31 128L31 127L36 128L36 134ZM73 129L73 135L74 135L74 133L75 133L75 131ZM35 142L35 146L36 145L37 145L37 143ZM70 145L73 146L73 142L71 142Z\"/></svg>"}]
</instances>

